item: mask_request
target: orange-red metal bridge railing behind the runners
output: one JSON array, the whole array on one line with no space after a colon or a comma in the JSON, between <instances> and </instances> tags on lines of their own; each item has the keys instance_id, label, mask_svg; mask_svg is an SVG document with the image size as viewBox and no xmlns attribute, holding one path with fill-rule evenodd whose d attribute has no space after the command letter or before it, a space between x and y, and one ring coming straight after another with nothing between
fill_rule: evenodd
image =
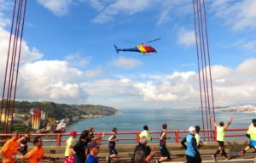
<instances>
[{"instance_id":1,"label":"orange-red metal bridge railing behind the runners","mask_svg":"<svg viewBox=\"0 0 256 163\"><path fill-rule=\"evenodd\" d=\"M247 128L231 128L226 130L225 138L226 140L246 140L245 133ZM118 132L117 138L119 143L125 144L136 144L139 142L139 133L140 132ZM148 132L152 137L152 143L159 143L160 131ZM170 130L167 131L168 143L179 143L185 136L189 133L187 130ZM95 136L100 137L103 132L96 132ZM105 137L101 139L102 144L108 143L108 138L112 132L105 132ZM22 136L23 134L20 134ZM80 133L76 139L79 138ZM217 132L215 129L212 130L201 130L200 132L201 140L205 142L216 141ZM67 141L67 138L70 136L69 133L35 133L34 136L41 136L44 140L44 145L56 145L61 146ZM11 137L11 134L0 134L0 142L5 142Z\"/></svg>"}]
</instances>

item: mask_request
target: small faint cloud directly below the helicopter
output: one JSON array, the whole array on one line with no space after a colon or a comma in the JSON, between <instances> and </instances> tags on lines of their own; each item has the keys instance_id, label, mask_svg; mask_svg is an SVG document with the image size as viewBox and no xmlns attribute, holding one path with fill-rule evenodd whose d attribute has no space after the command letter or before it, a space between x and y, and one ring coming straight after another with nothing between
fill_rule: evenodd
<instances>
[{"instance_id":1,"label":"small faint cloud directly below the helicopter","mask_svg":"<svg viewBox=\"0 0 256 163\"><path fill-rule=\"evenodd\" d=\"M142 64L143 63L137 59L125 57L119 57L118 59L114 59L112 62L112 65L119 67L120 69L132 69Z\"/></svg>"}]
</instances>

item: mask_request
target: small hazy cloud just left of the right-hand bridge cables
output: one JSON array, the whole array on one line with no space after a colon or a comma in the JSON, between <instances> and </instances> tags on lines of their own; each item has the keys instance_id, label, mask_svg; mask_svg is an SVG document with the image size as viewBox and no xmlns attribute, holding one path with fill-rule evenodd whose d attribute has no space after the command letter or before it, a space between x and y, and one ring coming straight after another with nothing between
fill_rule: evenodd
<instances>
[{"instance_id":1,"label":"small hazy cloud just left of the right-hand bridge cables","mask_svg":"<svg viewBox=\"0 0 256 163\"><path fill-rule=\"evenodd\" d=\"M188 31L183 27L177 31L177 43L185 47L195 44L195 31Z\"/></svg>"}]
</instances>

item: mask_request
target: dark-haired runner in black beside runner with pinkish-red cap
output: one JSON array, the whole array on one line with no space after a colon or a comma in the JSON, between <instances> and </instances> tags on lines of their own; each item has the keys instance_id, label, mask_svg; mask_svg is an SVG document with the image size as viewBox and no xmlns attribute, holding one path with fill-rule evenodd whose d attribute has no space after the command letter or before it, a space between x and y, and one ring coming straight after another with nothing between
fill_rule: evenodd
<instances>
[{"instance_id":1,"label":"dark-haired runner in black beside runner with pinkish-red cap","mask_svg":"<svg viewBox=\"0 0 256 163\"><path fill-rule=\"evenodd\" d=\"M87 138L88 138L89 132L88 130L84 130L79 138L79 142L76 143L73 147L73 150L75 154L73 155L75 163L84 163L86 160L86 149L87 149Z\"/></svg>"}]
</instances>

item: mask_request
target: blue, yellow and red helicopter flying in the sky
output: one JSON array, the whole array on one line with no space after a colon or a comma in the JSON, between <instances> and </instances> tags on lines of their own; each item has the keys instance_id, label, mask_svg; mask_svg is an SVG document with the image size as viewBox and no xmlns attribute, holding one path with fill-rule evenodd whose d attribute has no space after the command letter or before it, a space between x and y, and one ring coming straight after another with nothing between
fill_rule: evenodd
<instances>
[{"instance_id":1,"label":"blue, yellow and red helicopter flying in the sky","mask_svg":"<svg viewBox=\"0 0 256 163\"><path fill-rule=\"evenodd\" d=\"M156 38L148 42L155 42L160 39L161 38ZM125 41L125 42L129 42L129 41ZM157 53L157 51L153 47L145 45L145 43L148 43L148 42L139 43L135 48L118 48L116 45L113 45L113 47L115 48L116 53L119 53L119 51L138 52L138 53L142 53L143 55L149 55L150 53ZM137 43L137 42L130 42L130 43Z\"/></svg>"}]
</instances>

